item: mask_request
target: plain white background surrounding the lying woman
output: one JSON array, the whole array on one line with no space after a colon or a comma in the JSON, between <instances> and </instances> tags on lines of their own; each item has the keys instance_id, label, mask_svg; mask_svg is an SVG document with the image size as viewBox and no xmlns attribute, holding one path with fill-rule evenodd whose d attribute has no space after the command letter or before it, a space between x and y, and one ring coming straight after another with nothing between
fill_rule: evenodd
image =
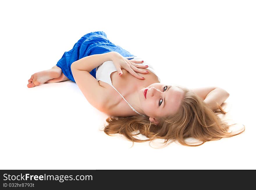
<instances>
[{"instance_id":1,"label":"plain white background surrounding the lying woman","mask_svg":"<svg viewBox=\"0 0 256 190\"><path fill-rule=\"evenodd\" d=\"M0 169L256 169L255 10L245 0L1 1ZM149 61L162 83L226 89L230 124L246 131L199 147L130 148L99 130L107 116L76 83L27 88L95 31Z\"/></svg>"}]
</instances>

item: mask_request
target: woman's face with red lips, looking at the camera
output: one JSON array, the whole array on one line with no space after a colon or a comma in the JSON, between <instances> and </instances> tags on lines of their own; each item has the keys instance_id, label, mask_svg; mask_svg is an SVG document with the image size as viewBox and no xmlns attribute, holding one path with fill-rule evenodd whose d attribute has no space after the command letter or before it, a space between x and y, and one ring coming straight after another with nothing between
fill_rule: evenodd
<instances>
[{"instance_id":1,"label":"woman's face with red lips, looking at the camera","mask_svg":"<svg viewBox=\"0 0 256 190\"><path fill-rule=\"evenodd\" d=\"M146 97L144 96L144 91L146 92ZM163 83L153 83L139 92L143 112L153 118L175 114L183 97L184 91L181 88Z\"/></svg>"}]
</instances>

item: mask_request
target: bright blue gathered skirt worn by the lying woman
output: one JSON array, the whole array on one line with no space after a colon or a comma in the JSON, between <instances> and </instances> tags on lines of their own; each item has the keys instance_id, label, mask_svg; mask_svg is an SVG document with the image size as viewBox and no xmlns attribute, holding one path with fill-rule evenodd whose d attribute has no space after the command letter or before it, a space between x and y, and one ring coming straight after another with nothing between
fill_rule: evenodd
<instances>
[{"instance_id":1,"label":"bright blue gathered skirt worn by the lying woman","mask_svg":"<svg viewBox=\"0 0 256 190\"><path fill-rule=\"evenodd\" d=\"M70 68L74 61L89 55L103 54L113 51L120 53L124 57L134 56L122 47L110 42L109 39L107 39L105 32L90 32L81 37L81 39L75 43L72 50L65 52L56 65L61 68L63 74L69 80L75 82ZM94 68L90 74L96 78L96 68Z\"/></svg>"}]
</instances>

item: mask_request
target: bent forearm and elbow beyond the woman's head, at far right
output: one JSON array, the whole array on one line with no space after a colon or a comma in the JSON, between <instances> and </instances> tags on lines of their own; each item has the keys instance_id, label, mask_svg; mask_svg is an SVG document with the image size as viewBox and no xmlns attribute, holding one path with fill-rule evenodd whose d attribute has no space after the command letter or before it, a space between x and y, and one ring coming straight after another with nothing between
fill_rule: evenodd
<instances>
[{"instance_id":1,"label":"bent forearm and elbow beyond the woman's head, at far right","mask_svg":"<svg viewBox=\"0 0 256 190\"><path fill-rule=\"evenodd\" d=\"M211 110L215 110L218 109L218 105L221 105L228 97L229 93L226 90L216 88L207 94L204 102L209 105Z\"/></svg>"}]
</instances>

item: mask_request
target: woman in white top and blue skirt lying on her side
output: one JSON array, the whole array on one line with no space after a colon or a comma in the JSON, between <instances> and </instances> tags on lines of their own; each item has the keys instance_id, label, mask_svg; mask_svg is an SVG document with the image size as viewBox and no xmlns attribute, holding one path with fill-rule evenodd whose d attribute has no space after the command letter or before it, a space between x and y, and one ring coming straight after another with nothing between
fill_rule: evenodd
<instances>
[{"instance_id":1,"label":"woman in white top and blue skirt lying on her side","mask_svg":"<svg viewBox=\"0 0 256 190\"><path fill-rule=\"evenodd\" d=\"M227 91L163 84L152 65L110 42L102 31L85 34L54 67L33 74L27 87L68 80L91 105L109 115L106 134L122 134L132 142L159 138L166 145L177 141L199 146L245 130L232 132L218 117L227 113L221 107ZM138 134L147 139L135 138Z\"/></svg>"}]
</instances>

